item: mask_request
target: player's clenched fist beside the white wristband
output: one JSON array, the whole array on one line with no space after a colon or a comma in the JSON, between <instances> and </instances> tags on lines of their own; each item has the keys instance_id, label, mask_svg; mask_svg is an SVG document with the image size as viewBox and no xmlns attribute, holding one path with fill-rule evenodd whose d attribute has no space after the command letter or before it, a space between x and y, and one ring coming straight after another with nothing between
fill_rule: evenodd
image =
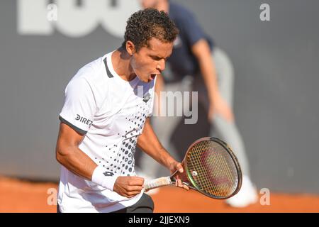
<instances>
[{"instance_id":1,"label":"player's clenched fist beside the white wristband","mask_svg":"<svg viewBox=\"0 0 319 227\"><path fill-rule=\"evenodd\" d=\"M118 177L114 183L113 191L121 196L132 198L140 194L143 184L144 178L142 177Z\"/></svg>"}]
</instances>

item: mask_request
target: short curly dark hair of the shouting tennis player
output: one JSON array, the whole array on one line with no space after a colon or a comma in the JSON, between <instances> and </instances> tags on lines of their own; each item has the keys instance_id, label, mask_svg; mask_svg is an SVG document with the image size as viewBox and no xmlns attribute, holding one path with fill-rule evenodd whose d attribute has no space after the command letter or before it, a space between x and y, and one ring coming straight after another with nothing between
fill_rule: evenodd
<instances>
[{"instance_id":1,"label":"short curly dark hair of the shouting tennis player","mask_svg":"<svg viewBox=\"0 0 319 227\"><path fill-rule=\"evenodd\" d=\"M164 11L144 9L137 11L128 18L122 48L126 49L126 42L130 40L138 52L143 46L149 46L151 38L157 38L163 43L175 40L179 30Z\"/></svg>"}]
</instances>

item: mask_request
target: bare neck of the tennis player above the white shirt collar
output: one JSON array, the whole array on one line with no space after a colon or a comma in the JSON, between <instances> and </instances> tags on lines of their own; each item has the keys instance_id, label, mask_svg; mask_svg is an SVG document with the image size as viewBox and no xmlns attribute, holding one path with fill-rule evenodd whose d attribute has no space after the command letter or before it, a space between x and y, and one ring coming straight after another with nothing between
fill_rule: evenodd
<instances>
[{"instance_id":1,"label":"bare neck of the tennis player above the white shirt collar","mask_svg":"<svg viewBox=\"0 0 319 227\"><path fill-rule=\"evenodd\" d=\"M130 55L123 48L118 48L112 54L112 63L115 72L125 81L131 81L136 77L130 67Z\"/></svg>"}]
</instances>

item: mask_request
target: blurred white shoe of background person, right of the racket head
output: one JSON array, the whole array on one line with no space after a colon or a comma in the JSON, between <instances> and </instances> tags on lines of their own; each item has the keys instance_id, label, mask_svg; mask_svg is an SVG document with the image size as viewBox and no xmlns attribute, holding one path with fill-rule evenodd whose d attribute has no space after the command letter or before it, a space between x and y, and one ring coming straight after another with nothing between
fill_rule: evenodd
<instances>
[{"instance_id":1,"label":"blurred white shoe of background person, right of the racket head","mask_svg":"<svg viewBox=\"0 0 319 227\"><path fill-rule=\"evenodd\" d=\"M245 207L257 202L257 190L246 175L242 176L242 187L235 196L226 199L226 203L233 207Z\"/></svg>"}]
</instances>

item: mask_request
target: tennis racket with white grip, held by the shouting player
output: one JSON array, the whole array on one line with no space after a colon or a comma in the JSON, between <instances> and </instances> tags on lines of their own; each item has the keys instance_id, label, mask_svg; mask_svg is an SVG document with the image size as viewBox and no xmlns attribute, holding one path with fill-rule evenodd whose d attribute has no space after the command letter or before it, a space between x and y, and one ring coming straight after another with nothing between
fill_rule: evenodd
<instances>
[{"instance_id":1,"label":"tennis racket with white grip, held by the shouting player","mask_svg":"<svg viewBox=\"0 0 319 227\"><path fill-rule=\"evenodd\" d=\"M227 199L239 192L242 171L230 147L218 138L206 137L192 143L181 162L184 172L145 182L145 191L174 184L176 176L189 188L213 199Z\"/></svg>"}]
</instances>

